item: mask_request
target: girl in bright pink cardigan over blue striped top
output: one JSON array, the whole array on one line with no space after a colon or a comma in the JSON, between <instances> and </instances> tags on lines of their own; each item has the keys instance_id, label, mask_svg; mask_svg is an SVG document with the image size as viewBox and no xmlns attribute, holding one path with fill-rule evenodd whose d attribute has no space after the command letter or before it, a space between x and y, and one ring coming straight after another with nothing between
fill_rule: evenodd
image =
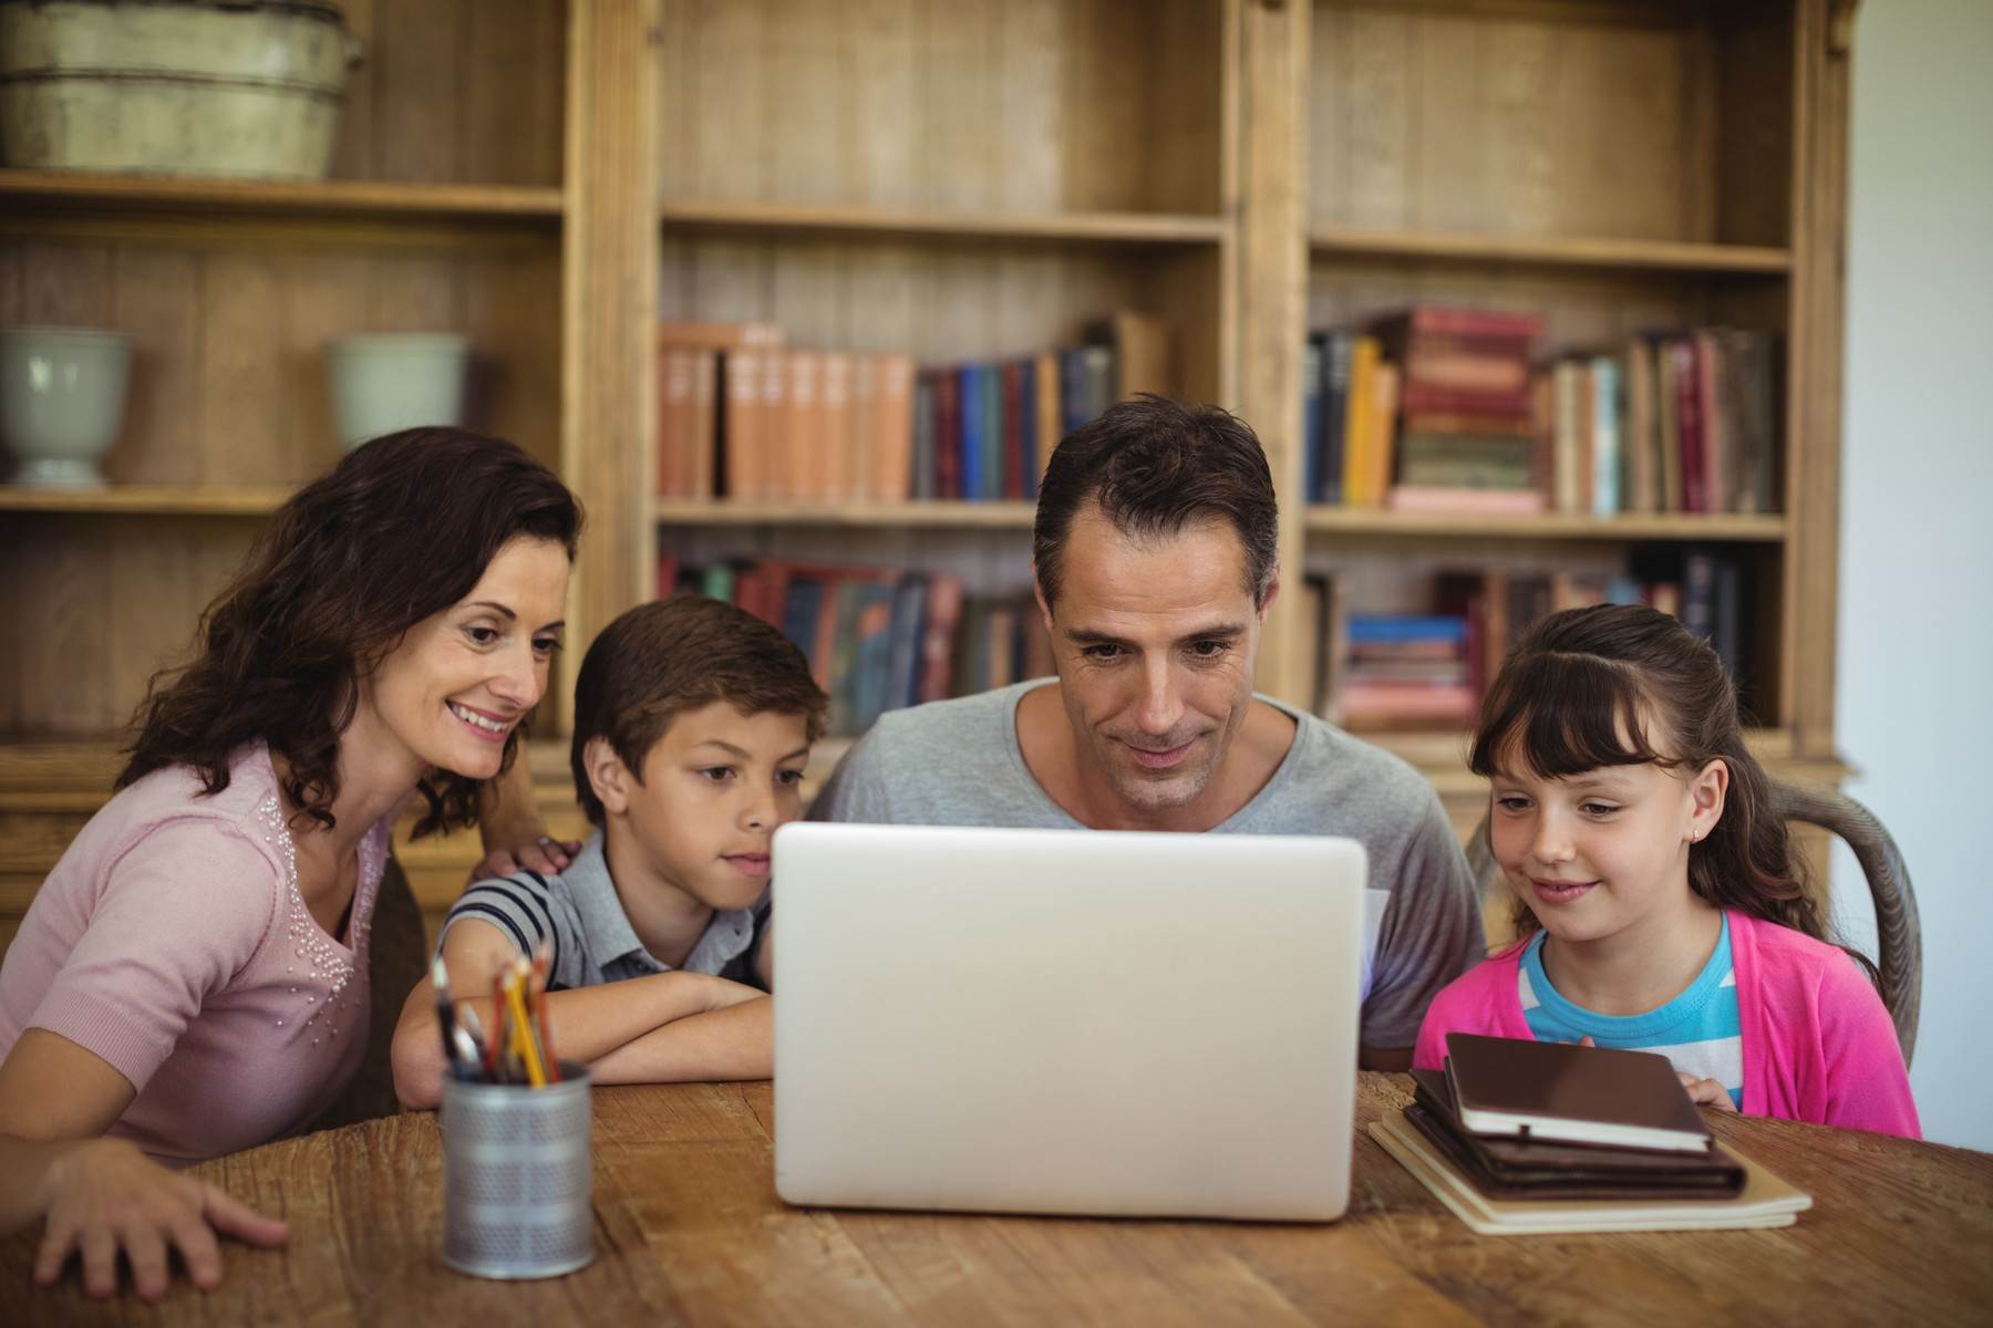
<instances>
[{"instance_id":1,"label":"girl in bright pink cardigan over blue striped top","mask_svg":"<svg viewBox=\"0 0 1993 1328\"><path fill-rule=\"evenodd\" d=\"M1826 942L1716 653L1640 605L1543 619L1481 707L1475 775L1521 942L1419 1029L1666 1055L1718 1109L1919 1137L1865 960Z\"/></svg>"}]
</instances>

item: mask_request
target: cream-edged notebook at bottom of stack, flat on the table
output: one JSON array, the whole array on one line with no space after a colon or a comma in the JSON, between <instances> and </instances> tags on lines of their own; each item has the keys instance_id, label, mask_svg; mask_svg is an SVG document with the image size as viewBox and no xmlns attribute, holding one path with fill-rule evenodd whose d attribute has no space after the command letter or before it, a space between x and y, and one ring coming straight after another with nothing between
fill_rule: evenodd
<instances>
[{"instance_id":1,"label":"cream-edged notebook at bottom of stack, flat on the table","mask_svg":"<svg viewBox=\"0 0 1993 1328\"><path fill-rule=\"evenodd\" d=\"M1734 1199L1493 1199L1461 1177L1403 1111L1387 1113L1369 1133L1481 1236L1792 1226L1814 1207L1812 1195L1744 1155L1732 1155L1744 1169L1744 1189Z\"/></svg>"}]
</instances>

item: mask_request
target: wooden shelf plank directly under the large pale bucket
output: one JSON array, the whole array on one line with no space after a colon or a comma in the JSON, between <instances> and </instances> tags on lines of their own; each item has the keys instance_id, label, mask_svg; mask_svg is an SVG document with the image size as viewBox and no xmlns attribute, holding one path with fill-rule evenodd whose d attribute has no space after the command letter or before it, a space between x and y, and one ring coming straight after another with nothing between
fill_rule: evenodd
<instances>
[{"instance_id":1,"label":"wooden shelf plank directly under the large pale bucket","mask_svg":"<svg viewBox=\"0 0 1993 1328\"><path fill-rule=\"evenodd\" d=\"M0 199L68 211L291 213L299 217L554 219L556 185L419 185L369 179L187 179L0 171Z\"/></svg>"}]
</instances>

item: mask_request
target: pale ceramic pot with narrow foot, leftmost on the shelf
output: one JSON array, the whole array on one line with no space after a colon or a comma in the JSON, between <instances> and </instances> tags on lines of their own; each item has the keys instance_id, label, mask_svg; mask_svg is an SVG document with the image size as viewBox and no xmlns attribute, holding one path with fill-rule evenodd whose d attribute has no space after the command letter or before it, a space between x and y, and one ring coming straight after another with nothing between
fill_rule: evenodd
<instances>
[{"instance_id":1,"label":"pale ceramic pot with narrow foot, leftmost on the shelf","mask_svg":"<svg viewBox=\"0 0 1993 1328\"><path fill-rule=\"evenodd\" d=\"M100 486L118 442L132 336L92 327L0 329L0 438L14 484Z\"/></svg>"}]
</instances>

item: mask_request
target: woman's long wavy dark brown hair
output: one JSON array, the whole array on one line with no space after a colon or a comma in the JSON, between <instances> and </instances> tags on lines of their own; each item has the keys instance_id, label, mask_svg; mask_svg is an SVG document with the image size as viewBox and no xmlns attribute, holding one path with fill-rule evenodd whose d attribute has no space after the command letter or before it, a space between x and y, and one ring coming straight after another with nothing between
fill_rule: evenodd
<instances>
[{"instance_id":1,"label":"woman's long wavy dark brown hair","mask_svg":"<svg viewBox=\"0 0 1993 1328\"><path fill-rule=\"evenodd\" d=\"M283 759L291 804L331 826L361 677L468 595L508 540L552 540L572 559L580 528L568 486L502 438L411 428L353 450L271 518L201 613L193 663L151 677L118 788L185 765L221 792L229 755L261 739ZM434 771L421 790L417 834L476 820L478 780Z\"/></svg>"}]
</instances>

